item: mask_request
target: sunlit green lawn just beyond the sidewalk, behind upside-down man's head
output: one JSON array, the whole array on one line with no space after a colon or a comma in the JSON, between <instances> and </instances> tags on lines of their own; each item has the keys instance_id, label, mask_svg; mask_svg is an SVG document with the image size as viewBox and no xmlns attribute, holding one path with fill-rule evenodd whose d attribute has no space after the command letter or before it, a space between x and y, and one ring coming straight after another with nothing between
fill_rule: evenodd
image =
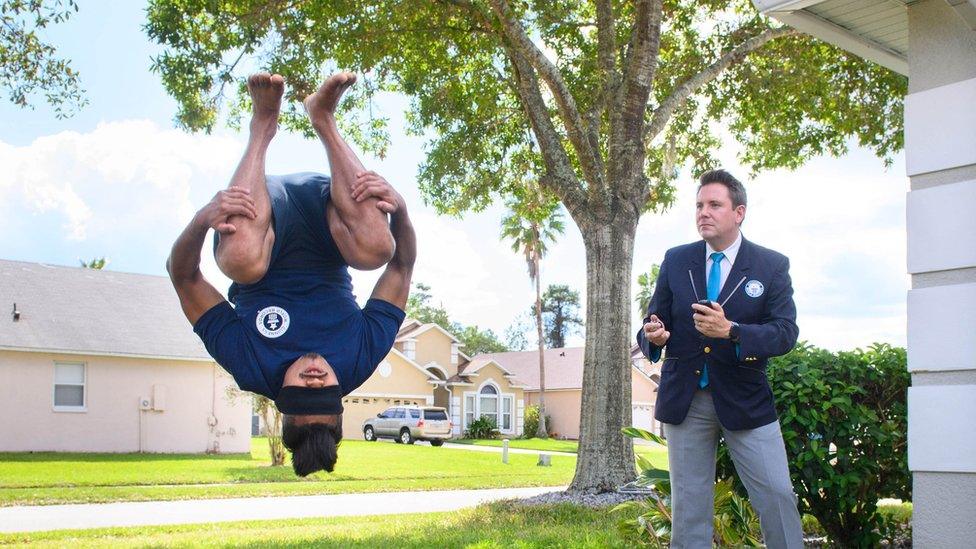
<instances>
[{"instance_id":1,"label":"sunlit green lawn just beyond the sidewalk, behind upside-down man's head","mask_svg":"<svg viewBox=\"0 0 976 549\"><path fill-rule=\"evenodd\" d=\"M332 474L300 479L291 466L270 467L267 442L252 454L0 453L0 506L308 495L401 490L558 486L576 459L347 440Z\"/></svg>"}]
</instances>

